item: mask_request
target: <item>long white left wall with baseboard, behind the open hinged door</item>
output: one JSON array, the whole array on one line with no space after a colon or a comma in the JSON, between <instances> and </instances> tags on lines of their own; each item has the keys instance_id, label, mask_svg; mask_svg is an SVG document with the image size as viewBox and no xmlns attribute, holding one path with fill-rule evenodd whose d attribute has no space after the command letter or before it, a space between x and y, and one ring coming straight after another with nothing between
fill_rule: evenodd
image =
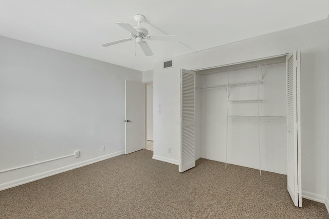
<instances>
[{"instance_id":1,"label":"long white left wall with baseboard, behind the open hinged door","mask_svg":"<svg viewBox=\"0 0 329 219\"><path fill-rule=\"evenodd\" d=\"M124 81L142 73L0 37L0 189L124 151ZM105 151L101 151L105 146Z\"/></svg>"}]
</instances>

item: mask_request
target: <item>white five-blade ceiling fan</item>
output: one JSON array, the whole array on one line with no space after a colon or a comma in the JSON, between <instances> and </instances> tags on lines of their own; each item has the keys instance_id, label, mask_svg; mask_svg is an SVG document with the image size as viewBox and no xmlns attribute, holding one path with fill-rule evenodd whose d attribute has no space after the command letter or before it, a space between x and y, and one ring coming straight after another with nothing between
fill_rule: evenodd
<instances>
[{"instance_id":1,"label":"white five-blade ceiling fan","mask_svg":"<svg viewBox=\"0 0 329 219\"><path fill-rule=\"evenodd\" d=\"M144 54L146 56L151 56L153 55L153 52L148 43L144 41L144 39L149 39L151 41L179 41L178 36L175 35L148 35L149 31L146 28L140 26L140 23L145 21L145 17L141 14L136 14L134 18L138 23L138 27L133 27L127 23L117 22L117 25L130 32L130 38L119 39L118 41L102 44L102 46L112 46L136 39L136 43L140 45Z\"/></svg>"}]
</instances>

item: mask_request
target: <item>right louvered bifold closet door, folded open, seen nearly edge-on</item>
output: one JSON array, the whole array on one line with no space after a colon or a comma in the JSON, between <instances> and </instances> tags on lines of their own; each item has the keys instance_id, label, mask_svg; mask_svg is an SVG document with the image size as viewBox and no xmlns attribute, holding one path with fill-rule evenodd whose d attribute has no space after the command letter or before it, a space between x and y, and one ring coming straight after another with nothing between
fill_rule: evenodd
<instances>
[{"instance_id":1,"label":"right louvered bifold closet door, folded open, seen nearly edge-on","mask_svg":"<svg viewBox=\"0 0 329 219\"><path fill-rule=\"evenodd\" d=\"M287 185L295 206L302 207L300 130L300 52L286 57L287 65Z\"/></svg>"}]
</instances>

